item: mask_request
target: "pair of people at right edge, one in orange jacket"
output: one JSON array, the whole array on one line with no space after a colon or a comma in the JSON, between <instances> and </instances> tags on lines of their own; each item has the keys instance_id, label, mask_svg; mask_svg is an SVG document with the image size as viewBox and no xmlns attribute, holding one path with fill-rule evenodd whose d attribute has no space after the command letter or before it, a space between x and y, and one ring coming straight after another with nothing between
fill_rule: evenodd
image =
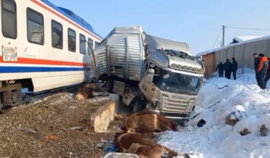
<instances>
[{"instance_id":1,"label":"pair of people at right edge, one in orange jacket","mask_svg":"<svg viewBox=\"0 0 270 158\"><path fill-rule=\"evenodd\" d=\"M261 89L265 89L267 86L267 81L270 78L270 58L267 58L265 54L253 54L254 56L254 69L256 74L256 80L258 86Z\"/></svg>"}]
</instances>

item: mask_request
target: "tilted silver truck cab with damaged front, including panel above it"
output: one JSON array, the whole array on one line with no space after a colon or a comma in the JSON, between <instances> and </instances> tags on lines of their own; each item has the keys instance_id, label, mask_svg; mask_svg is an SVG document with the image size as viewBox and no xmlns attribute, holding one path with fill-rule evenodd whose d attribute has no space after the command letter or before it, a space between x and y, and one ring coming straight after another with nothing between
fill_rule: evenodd
<instances>
[{"instance_id":1,"label":"tilted silver truck cab with damaged front, including panel above it","mask_svg":"<svg viewBox=\"0 0 270 158\"><path fill-rule=\"evenodd\" d=\"M147 109L173 120L187 119L204 80L204 65L187 43L147 36L146 74L139 87Z\"/></svg>"}]
</instances>

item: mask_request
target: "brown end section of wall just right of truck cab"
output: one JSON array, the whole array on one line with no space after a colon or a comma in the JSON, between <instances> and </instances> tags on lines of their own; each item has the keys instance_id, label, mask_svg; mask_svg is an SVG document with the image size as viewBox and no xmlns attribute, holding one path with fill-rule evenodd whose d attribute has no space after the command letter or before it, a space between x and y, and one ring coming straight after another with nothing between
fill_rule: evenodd
<instances>
[{"instance_id":1,"label":"brown end section of wall just right of truck cab","mask_svg":"<svg viewBox=\"0 0 270 158\"><path fill-rule=\"evenodd\" d=\"M204 76L206 77L212 76L212 72L214 72L216 69L214 53L203 56L203 60L204 66L206 67L206 72L204 73Z\"/></svg>"}]
</instances>

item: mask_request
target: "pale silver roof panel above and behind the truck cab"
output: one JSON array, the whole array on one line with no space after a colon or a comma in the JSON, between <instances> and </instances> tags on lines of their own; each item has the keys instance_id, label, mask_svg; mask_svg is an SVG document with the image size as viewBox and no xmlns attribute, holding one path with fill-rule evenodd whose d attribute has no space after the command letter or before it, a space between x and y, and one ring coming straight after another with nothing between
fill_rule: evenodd
<instances>
[{"instance_id":1,"label":"pale silver roof panel above and behind the truck cab","mask_svg":"<svg viewBox=\"0 0 270 158\"><path fill-rule=\"evenodd\" d=\"M188 46L188 43L171 41L168 39L150 35L146 36L145 43L147 43L148 45L147 49L149 50L149 52L156 52L156 50L159 49L171 49L184 52L190 56L193 56L191 48Z\"/></svg>"}]
</instances>

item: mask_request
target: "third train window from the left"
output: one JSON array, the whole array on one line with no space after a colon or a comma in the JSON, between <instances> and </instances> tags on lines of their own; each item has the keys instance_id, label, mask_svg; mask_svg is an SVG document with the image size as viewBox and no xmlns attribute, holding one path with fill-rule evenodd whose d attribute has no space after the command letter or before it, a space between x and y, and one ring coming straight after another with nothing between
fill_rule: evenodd
<instances>
[{"instance_id":1,"label":"third train window from the left","mask_svg":"<svg viewBox=\"0 0 270 158\"><path fill-rule=\"evenodd\" d=\"M61 23L51 21L51 45L55 48L63 48L63 27Z\"/></svg>"}]
</instances>

